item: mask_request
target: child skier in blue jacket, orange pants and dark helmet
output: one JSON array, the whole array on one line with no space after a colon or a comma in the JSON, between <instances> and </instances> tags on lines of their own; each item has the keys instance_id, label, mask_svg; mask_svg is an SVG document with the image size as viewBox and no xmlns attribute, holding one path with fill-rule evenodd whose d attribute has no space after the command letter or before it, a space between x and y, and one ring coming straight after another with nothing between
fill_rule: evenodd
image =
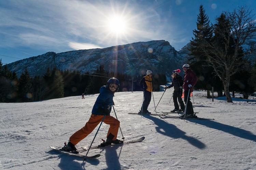
<instances>
[{"instance_id":1,"label":"child skier in blue jacket, orange pants and dark helmet","mask_svg":"<svg viewBox=\"0 0 256 170\"><path fill-rule=\"evenodd\" d=\"M104 123L109 124L109 131L107 134L106 142L101 143L101 147L111 145L111 143L123 143L123 141L116 139L120 122L114 117L110 116L110 112L113 105L114 93L119 88L119 81L116 78L111 78L108 80L106 86L100 88L100 94L96 99L96 102L91 111L91 117L85 126L75 132L70 138L67 144L66 150L69 150L74 153L79 153L75 148L75 145L89 135L96 126L103 120Z\"/></svg>"}]
</instances>

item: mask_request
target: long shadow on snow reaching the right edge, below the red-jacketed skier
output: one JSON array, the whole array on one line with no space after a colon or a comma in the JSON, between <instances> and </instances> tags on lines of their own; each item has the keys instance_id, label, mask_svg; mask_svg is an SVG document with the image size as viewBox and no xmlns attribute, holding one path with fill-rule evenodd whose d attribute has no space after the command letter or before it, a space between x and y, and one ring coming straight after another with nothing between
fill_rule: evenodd
<instances>
[{"instance_id":1,"label":"long shadow on snow reaching the right edge, below the red-jacketed skier","mask_svg":"<svg viewBox=\"0 0 256 170\"><path fill-rule=\"evenodd\" d=\"M215 121L212 121L212 120L200 121L200 120L189 119L189 121L193 122L193 123L200 124L200 125L207 126L209 128L212 128L212 129L223 131L223 132L229 133L231 135L234 135L234 136L237 136L237 137L240 137L240 138L244 138L244 139L248 139L248 140L252 140L252 141L256 142L256 135L254 135L250 131L246 131L246 130L243 130L243 129L240 129L240 128L236 128L234 126L230 126L230 125L227 125L227 124L222 124L222 123L215 122Z\"/></svg>"}]
</instances>

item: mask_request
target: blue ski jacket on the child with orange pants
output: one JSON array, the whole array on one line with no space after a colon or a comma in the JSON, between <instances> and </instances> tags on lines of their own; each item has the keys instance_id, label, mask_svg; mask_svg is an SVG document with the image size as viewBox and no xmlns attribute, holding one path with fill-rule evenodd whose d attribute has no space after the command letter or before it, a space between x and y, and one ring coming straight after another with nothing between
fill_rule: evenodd
<instances>
[{"instance_id":1,"label":"blue ski jacket on the child with orange pants","mask_svg":"<svg viewBox=\"0 0 256 170\"><path fill-rule=\"evenodd\" d=\"M110 112L113 105L113 97L114 92L112 92L107 86L102 86L100 88L100 94L96 99L96 102L93 106L93 110L91 111L92 114L95 115L106 115L104 113L104 109L107 109L108 106L111 106L109 108ZM107 114L110 115L110 114Z\"/></svg>"}]
</instances>

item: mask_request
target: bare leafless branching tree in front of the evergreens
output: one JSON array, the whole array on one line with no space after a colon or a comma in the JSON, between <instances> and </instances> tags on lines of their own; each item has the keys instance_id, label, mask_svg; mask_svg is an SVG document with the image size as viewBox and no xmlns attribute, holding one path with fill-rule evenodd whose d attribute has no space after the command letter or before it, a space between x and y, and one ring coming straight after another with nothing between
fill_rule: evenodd
<instances>
[{"instance_id":1,"label":"bare leafless branching tree in front of the evergreens","mask_svg":"<svg viewBox=\"0 0 256 170\"><path fill-rule=\"evenodd\" d=\"M222 13L214 24L212 43L205 40L202 50L214 72L222 80L227 102L233 102L229 93L230 77L244 69L242 45L248 38L255 36L255 19L252 11L240 7L233 12Z\"/></svg>"}]
</instances>

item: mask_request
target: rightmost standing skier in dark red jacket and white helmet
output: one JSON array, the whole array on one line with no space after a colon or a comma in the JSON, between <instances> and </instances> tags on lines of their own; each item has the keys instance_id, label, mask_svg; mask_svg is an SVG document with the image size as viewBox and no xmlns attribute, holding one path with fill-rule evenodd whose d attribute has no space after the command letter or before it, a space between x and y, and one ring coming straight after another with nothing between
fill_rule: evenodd
<instances>
[{"instance_id":1,"label":"rightmost standing skier in dark red jacket and white helmet","mask_svg":"<svg viewBox=\"0 0 256 170\"><path fill-rule=\"evenodd\" d=\"M196 115L194 114L192 102L190 101L190 93L193 92L193 89L194 89L193 87L197 83L197 77L195 73L190 69L188 64L184 64L182 69L183 71L185 71L183 89L184 89L184 101L186 103L186 117L196 117ZM184 115L182 116L184 117Z\"/></svg>"}]
</instances>

